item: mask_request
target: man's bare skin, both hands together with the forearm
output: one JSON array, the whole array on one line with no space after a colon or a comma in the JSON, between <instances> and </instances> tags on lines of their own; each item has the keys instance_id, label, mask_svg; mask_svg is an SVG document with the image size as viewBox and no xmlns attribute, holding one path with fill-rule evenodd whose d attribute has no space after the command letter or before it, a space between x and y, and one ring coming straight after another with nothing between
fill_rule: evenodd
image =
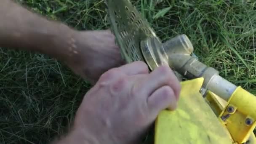
<instances>
[{"instance_id":1,"label":"man's bare skin, both hands together with the forearm","mask_svg":"<svg viewBox=\"0 0 256 144\"><path fill-rule=\"evenodd\" d=\"M0 1L0 21L0 47L47 54L95 83L72 130L53 144L135 144L161 110L177 107L181 87L173 71L124 64L109 31L77 31L11 0Z\"/></svg>"}]
</instances>

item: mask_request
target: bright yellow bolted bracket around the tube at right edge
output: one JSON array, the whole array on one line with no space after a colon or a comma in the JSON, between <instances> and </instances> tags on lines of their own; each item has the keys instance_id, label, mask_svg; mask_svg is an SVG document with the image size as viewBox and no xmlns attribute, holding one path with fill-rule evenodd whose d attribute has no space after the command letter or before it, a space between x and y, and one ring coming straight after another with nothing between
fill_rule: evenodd
<instances>
[{"instance_id":1,"label":"bright yellow bolted bracket around the tube at right edge","mask_svg":"<svg viewBox=\"0 0 256 144\"><path fill-rule=\"evenodd\" d=\"M233 107L234 112L228 112L228 107ZM223 121L221 117L226 115L229 117ZM250 125L246 124L248 118L251 120ZM256 126L256 96L238 87L221 112L219 119L227 127L235 142L245 143Z\"/></svg>"}]
</instances>

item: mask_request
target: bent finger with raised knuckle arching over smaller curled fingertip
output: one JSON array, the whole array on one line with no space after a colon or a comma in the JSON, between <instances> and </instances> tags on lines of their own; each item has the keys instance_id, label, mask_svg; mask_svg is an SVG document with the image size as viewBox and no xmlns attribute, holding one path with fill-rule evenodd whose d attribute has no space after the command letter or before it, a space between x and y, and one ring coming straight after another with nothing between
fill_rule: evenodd
<instances>
[{"instance_id":1,"label":"bent finger with raised knuckle arching over smaller curled fingertip","mask_svg":"<svg viewBox=\"0 0 256 144\"><path fill-rule=\"evenodd\" d=\"M176 99L179 99L181 86L176 75L174 75L173 71L169 67L162 66L155 69L155 71L153 71L147 77L147 79L144 80L142 85L143 88L141 88L141 90L144 91L143 93L145 93L147 96L150 96L158 88L161 88L165 85L169 86L172 88Z\"/></svg>"}]
</instances>

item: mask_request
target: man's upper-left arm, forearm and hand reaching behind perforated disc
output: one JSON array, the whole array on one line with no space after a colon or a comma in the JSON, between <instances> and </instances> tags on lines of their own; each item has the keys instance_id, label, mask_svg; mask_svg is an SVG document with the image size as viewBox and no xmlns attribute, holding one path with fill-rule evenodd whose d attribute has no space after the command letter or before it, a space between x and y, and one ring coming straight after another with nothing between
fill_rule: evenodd
<instances>
[{"instance_id":1,"label":"man's upper-left arm, forearm and hand reaching behind perforated disc","mask_svg":"<svg viewBox=\"0 0 256 144\"><path fill-rule=\"evenodd\" d=\"M47 54L92 83L122 64L111 32L77 31L32 13L12 0L0 0L0 47Z\"/></svg>"}]
</instances>

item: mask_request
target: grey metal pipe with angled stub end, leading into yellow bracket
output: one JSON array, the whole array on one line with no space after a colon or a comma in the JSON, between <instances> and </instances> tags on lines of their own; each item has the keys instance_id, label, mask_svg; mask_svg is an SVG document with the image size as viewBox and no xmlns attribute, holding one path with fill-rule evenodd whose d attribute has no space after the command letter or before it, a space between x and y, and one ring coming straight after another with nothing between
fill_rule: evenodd
<instances>
[{"instance_id":1,"label":"grey metal pipe with angled stub end, leading into yellow bracket","mask_svg":"<svg viewBox=\"0 0 256 144\"><path fill-rule=\"evenodd\" d=\"M219 72L212 67L207 67L202 62L190 56L193 46L186 35L178 35L163 44L164 54L168 56L170 67L179 74L194 79L204 77L203 88L208 89L228 101L237 88L236 85L219 76Z\"/></svg>"}]
</instances>

